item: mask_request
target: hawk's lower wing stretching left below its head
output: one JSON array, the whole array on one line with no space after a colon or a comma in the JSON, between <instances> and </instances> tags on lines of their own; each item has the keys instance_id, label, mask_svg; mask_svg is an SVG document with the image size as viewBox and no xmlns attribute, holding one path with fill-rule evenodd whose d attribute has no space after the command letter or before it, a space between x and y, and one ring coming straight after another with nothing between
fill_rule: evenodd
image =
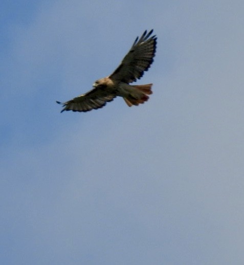
<instances>
[{"instance_id":1,"label":"hawk's lower wing stretching left below its head","mask_svg":"<svg viewBox=\"0 0 244 265\"><path fill-rule=\"evenodd\" d=\"M101 108L106 105L107 102L112 101L116 97L116 94L112 94L97 87L83 95L80 95L72 100L61 103L56 101L58 104L63 104L63 111L73 112L88 112L92 109Z\"/></svg>"}]
</instances>

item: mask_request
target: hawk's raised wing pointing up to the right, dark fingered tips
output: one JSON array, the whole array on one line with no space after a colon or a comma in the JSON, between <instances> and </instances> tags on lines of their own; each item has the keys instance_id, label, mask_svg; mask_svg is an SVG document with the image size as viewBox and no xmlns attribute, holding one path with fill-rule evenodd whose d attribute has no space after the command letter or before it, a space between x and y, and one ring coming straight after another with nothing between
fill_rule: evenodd
<instances>
[{"instance_id":1,"label":"hawk's raised wing pointing up to the right, dark fingered tips","mask_svg":"<svg viewBox=\"0 0 244 265\"><path fill-rule=\"evenodd\" d=\"M143 76L144 71L147 71L153 62L156 52L157 37L150 37L152 32L153 30L148 33L145 31L140 39L136 38L119 67L109 76L111 79L131 83Z\"/></svg>"}]
</instances>

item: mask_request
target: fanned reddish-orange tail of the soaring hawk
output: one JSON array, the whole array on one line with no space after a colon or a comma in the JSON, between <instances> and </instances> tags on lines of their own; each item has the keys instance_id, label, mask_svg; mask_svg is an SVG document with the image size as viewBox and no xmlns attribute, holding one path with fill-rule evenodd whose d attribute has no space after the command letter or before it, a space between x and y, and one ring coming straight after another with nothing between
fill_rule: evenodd
<instances>
[{"instance_id":1,"label":"fanned reddish-orange tail of the soaring hawk","mask_svg":"<svg viewBox=\"0 0 244 265\"><path fill-rule=\"evenodd\" d=\"M143 104L149 99L147 95L152 94L152 84L131 85L131 87L134 88L133 92L126 98L123 98L129 107L132 105L138 106L139 104Z\"/></svg>"}]
</instances>

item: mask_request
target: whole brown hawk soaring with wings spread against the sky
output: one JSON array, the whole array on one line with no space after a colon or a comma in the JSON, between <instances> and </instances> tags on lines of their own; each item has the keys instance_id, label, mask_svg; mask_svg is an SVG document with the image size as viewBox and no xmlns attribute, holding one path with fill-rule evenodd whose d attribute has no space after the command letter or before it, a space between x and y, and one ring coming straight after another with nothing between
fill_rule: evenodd
<instances>
[{"instance_id":1,"label":"whole brown hawk soaring with wings spread against the sky","mask_svg":"<svg viewBox=\"0 0 244 265\"><path fill-rule=\"evenodd\" d=\"M58 104L63 105L63 111L88 112L101 108L115 97L123 97L126 104L138 106L148 100L152 94L152 84L130 85L143 76L153 62L156 53L157 37L151 36L153 30L145 31L137 37L129 52L121 61L113 74L98 79L93 84L93 89L69 101Z\"/></svg>"}]
</instances>

